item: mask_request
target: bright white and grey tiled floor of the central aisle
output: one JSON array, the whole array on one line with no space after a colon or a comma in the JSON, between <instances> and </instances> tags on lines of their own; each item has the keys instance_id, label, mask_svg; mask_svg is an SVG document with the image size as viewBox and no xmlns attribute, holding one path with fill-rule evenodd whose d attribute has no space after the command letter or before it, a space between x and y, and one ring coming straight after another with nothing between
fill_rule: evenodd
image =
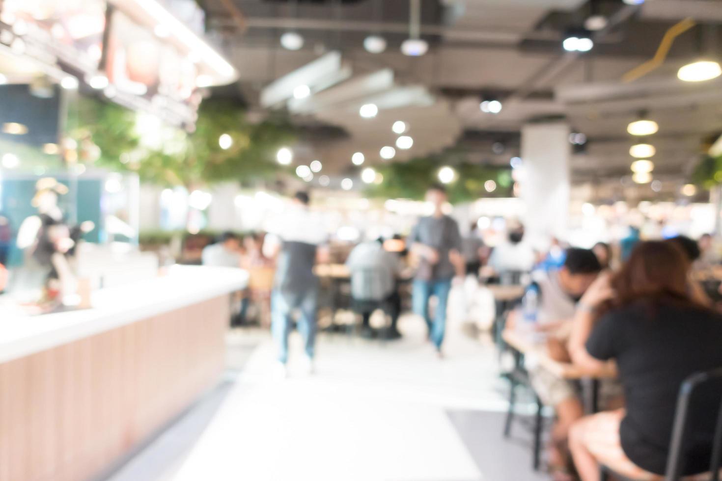
<instances>
[{"instance_id":1,"label":"bright white and grey tiled floor of the central aisle","mask_svg":"<svg viewBox=\"0 0 722 481\"><path fill-rule=\"evenodd\" d=\"M439 361L420 321L404 317L401 329L404 339L386 344L321 335L314 376L299 374L294 338L290 379L274 376L267 335L235 333L230 363L243 369L111 479L546 479L523 440L501 436L506 387L493 346L450 325Z\"/></svg>"}]
</instances>

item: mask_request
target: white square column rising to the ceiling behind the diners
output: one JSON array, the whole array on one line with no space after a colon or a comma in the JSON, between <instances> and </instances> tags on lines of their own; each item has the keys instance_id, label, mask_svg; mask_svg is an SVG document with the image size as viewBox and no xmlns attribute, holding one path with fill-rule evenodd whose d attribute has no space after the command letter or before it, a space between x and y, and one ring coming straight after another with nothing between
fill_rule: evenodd
<instances>
[{"instance_id":1,"label":"white square column rising to the ceiling behind the diners","mask_svg":"<svg viewBox=\"0 0 722 481\"><path fill-rule=\"evenodd\" d=\"M570 128L566 123L527 124L521 129L521 199L527 239L544 246L567 239L570 198Z\"/></svg>"}]
</instances>

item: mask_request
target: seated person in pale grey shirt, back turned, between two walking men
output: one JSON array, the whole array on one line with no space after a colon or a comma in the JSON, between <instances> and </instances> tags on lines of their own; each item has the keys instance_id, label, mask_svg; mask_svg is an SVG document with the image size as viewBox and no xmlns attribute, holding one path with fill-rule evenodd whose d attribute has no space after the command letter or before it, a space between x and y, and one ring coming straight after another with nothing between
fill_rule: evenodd
<instances>
[{"instance_id":1,"label":"seated person in pale grey shirt, back turned, between two walking men","mask_svg":"<svg viewBox=\"0 0 722 481\"><path fill-rule=\"evenodd\" d=\"M399 261L396 256L383 248L383 239L362 242L351 251L346 265L351 271L351 296L363 315L362 334L371 337L370 319L375 307L383 307L391 316L391 330L388 336L401 337L396 327L399 321L399 296L396 278L399 275Z\"/></svg>"}]
</instances>

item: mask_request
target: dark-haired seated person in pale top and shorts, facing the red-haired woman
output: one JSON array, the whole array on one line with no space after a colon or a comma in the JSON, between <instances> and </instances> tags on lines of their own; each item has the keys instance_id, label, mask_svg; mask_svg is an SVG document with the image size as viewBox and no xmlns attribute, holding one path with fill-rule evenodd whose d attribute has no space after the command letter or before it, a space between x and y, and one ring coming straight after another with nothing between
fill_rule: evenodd
<instances>
[{"instance_id":1,"label":"dark-haired seated person in pale top and shorts, facing the red-haired woman","mask_svg":"<svg viewBox=\"0 0 722 481\"><path fill-rule=\"evenodd\" d=\"M591 250L567 249L562 268L549 272L539 271L534 275L534 284L539 291L537 329L549 335L552 350L566 342L575 314L577 300L599 275L601 265ZM563 340L563 341L562 341ZM553 349L558 351L558 349ZM568 361L565 349L562 353L550 352L557 361ZM562 358L560 358L562 357ZM544 405L554 407L557 420L552 428L552 446L549 465L557 479L565 479L568 463L566 443L569 428L584 414L575 384L561 379L540 367L529 369L534 392Z\"/></svg>"}]
</instances>

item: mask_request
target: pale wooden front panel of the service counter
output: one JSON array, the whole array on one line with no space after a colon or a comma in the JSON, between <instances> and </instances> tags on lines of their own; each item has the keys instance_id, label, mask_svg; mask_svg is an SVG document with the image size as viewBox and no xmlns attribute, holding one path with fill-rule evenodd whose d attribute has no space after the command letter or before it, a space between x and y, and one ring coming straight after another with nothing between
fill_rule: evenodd
<instances>
[{"instance_id":1,"label":"pale wooden front panel of the service counter","mask_svg":"<svg viewBox=\"0 0 722 481\"><path fill-rule=\"evenodd\" d=\"M1 363L0 481L83 481L118 462L217 382L229 317L220 296Z\"/></svg>"}]
</instances>

